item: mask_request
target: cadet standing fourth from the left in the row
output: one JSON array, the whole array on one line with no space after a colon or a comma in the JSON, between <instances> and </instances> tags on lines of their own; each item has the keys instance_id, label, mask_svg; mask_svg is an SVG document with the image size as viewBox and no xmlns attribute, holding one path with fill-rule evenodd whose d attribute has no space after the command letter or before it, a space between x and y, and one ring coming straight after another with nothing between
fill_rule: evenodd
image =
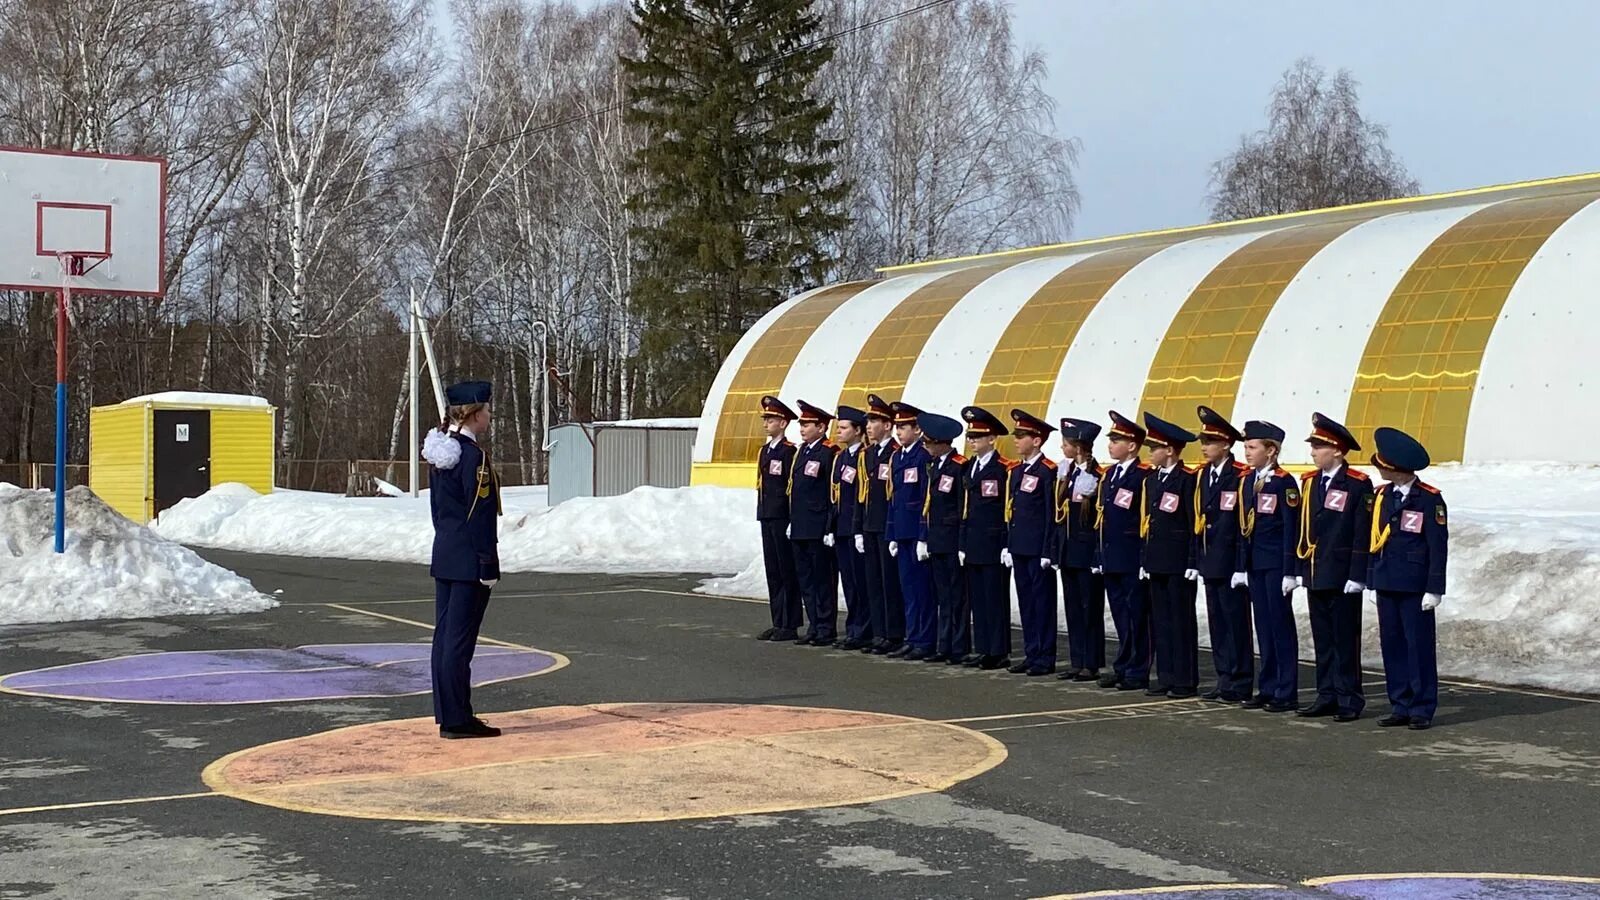
<instances>
[{"instance_id":1,"label":"cadet standing fourth from the left in the row","mask_svg":"<svg viewBox=\"0 0 1600 900\"><path fill-rule=\"evenodd\" d=\"M894 410L877 394L867 394L867 447L862 474L867 490L861 496L861 520L856 525L856 551L867 565L867 604L872 610L872 644L862 653L893 653L906 642L906 607L899 591L899 569L890 556L885 533L890 517L890 477L899 445L890 431Z\"/></svg>"}]
</instances>

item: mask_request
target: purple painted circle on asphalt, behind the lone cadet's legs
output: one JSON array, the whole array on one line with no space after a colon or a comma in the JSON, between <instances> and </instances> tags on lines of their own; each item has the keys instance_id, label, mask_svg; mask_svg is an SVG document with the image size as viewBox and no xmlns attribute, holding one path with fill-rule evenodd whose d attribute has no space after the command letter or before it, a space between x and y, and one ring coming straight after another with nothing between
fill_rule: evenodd
<instances>
[{"instance_id":1,"label":"purple painted circle on asphalt, behind the lone cadet's legs","mask_svg":"<svg viewBox=\"0 0 1600 900\"><path fill-rule=\"evenodd\" d=\"M429 644L309 644L293 649L179 650L72 663L0 677L0 690L123 703L286 703L403 697L432 690ZM541 650L478 647L472 684L565 665Z\"/></svg>"}]
</instances>

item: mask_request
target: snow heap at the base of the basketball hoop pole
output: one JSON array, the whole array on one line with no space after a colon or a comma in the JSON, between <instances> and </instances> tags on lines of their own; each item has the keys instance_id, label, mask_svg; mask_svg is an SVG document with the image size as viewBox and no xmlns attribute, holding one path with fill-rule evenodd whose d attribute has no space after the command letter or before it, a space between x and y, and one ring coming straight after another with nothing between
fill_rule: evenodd
<instances>
[{"instance_id":1,"label":"snow heap at the base of the basketball hoop pole","mask_svg":"<svg viewBox=\"0 0 1600 900\"><path fill-rule=\"evenodd\" d=\"M0 484L0 625L277 605L238 575L123 519L86 487L67 492L64 554L54 552L54 522L51 492Z\"/></svg>"}]
</instances>

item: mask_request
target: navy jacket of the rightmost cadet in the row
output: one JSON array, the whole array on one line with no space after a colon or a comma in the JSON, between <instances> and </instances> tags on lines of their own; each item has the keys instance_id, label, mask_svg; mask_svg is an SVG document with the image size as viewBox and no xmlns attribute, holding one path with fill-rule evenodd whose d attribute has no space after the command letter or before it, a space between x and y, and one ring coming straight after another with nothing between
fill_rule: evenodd
<instances>
[{"instance_id":1,"label":"navy jacket of the rightmost cadet in the row","mask_svg":"<svg viewBox=\"0 0 1600 900\"><path fill-rule=\"evenodd\" d=\"M1395 485L1378 488L1373 509L1373 544L1366 564L1366 586L1374 591L1445 596L1445 559L1450 525L1445 522L1445 495L1434 485L1411 482L1405 500L1395 503Z\"/></svg>"}]
</instances>

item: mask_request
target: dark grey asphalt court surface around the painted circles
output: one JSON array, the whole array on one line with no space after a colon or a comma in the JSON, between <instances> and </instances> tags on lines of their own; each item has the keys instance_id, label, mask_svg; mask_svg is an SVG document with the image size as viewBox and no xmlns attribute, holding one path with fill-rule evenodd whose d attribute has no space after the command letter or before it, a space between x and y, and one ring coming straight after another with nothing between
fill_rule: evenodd
<instances>
[{"instance_id":1,"label":"dark grey asphalt court surface around the painted circles","mask_svg":"<svg viewBox=\"0 0 1600 900\"><path fill-rule=\"evenodd\" d=\"M421 567L205 556L282 591L282 605L0 628L0 674L427 639ZM0 693L0 898L989 898L1355 873L1600 876L1595 698L1445 685L1435 727L1408 732L1376 727L1387 705L1371 674L1366 717L1333 724L757 642L765 604L696 596L694 583L509 575L483 636L570 665L477 689L480 714L618 701L859 709L955 722L1000 741L1003 761L941 791L787 812L626 825L350 818L224 796L202 770L270 741L427 716L426 695L174 706ZM448 746L464 743L490 741ZM733 759L726 781L752 775Z\"/></svg>"}]
</instances>

